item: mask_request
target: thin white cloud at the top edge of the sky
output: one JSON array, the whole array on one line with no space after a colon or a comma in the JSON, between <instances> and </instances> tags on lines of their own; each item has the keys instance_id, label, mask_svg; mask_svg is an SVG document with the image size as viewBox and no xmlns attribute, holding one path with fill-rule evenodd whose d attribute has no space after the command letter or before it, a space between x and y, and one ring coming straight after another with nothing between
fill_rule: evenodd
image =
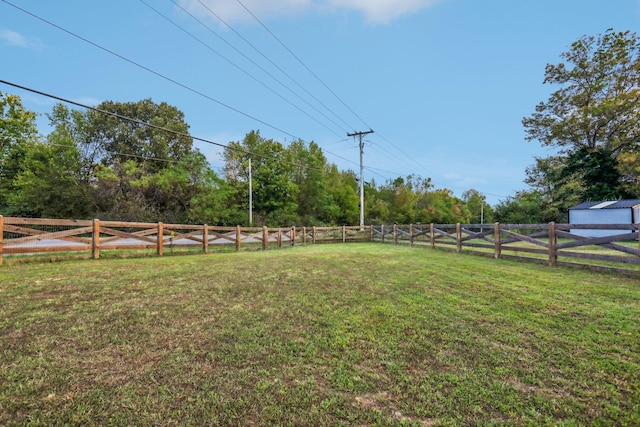
<instances>
[{"instance_id":1,"label":"thin white cloud at the top edge of the sky","mask_svg":"<svg viewBox=\"0 0 640 427\"><path fill-rule=\"evenodd\" d=\"M362 13L366 20L388 23L394 19L426 9L442 0L241 0L256 16L274 18L292 16L313 11L338 12L352 10ZM227 22L248 21L251 15L234 0L180 0L183 7L195 13L209 14L202 7L215 12ZM202 3L202 4L201 4Z\"/></svg>"}]
</instances>

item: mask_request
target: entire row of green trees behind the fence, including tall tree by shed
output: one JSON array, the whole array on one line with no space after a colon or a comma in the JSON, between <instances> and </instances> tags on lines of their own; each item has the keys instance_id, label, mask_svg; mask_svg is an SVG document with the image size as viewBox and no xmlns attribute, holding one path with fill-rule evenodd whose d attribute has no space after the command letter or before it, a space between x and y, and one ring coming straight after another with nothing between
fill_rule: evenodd
<instances>
[{"instance_id":1,"label":"entire row of green trees behind the fence, including tall tree by shed","mask_svg":"<svg viewBox=\"0 0 640 427\"><path fill-rule=\"evenodd\" d=\"M559 88L522 119L526 140L553 153L527 168L528 189L491 207L475 189L458 198L417 175L372 180L366 222L567 222L583 201L640 198L638 36L583 36L560 58L543 81ZM47 116L52 131L40 136L35 113L0 92L0 214L249 225L251 184L252 225L359 221L356 174L329 163L315 142L285 146L251 131L226 146L217 174L167 103L59 104Z\"/></svg>"}]
</instances>

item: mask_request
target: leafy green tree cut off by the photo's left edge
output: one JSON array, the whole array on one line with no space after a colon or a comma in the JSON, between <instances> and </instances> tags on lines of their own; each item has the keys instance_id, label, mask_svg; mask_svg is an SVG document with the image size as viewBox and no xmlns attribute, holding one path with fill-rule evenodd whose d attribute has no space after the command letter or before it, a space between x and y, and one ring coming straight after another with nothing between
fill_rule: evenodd
<instances>
[{"instance_id":1,"label":"leafy green tree cut off by the photo's left edge","mask_svg":"<svg viewBox=\"0 0 640 427\"><path fill-rule=\"evenodd\" d=\"M19 96L0 92L0 214L19 214L8 196L16 191L15 180L37 135L36 114L25 110Z\"/></svg>"}]
</instances>

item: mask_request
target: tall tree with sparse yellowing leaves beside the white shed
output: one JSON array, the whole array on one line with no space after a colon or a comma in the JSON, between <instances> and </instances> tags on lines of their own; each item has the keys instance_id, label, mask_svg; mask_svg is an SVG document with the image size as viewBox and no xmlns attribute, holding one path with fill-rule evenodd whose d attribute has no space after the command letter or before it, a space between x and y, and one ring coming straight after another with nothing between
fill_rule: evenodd
<instances>
[{"instance_id":1,"label":"tall tree with sparse yellowing leaves beside the white shed","mask_svg":"<svg viewBox=\"0 0 640 427\"><path fill-rule=\"evenodd\" d=\"M583 200L640 196L640 39L608 30L561 58L544 78L560 89L522 120L529 141L557 150L527 169L549 218Z\"/></svg>"}]
</instances>

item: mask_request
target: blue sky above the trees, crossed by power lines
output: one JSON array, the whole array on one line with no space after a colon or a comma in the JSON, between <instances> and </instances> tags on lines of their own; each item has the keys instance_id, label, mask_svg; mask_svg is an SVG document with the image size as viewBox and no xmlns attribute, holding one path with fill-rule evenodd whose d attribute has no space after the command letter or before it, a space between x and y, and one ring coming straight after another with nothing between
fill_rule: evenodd
<instances>
[{"instance_id":1,"label":"blue sky above the trees, crossed by power lines","mask_svg":"<svg viewBox=\"0 0 640 427\"><path fill-rule=\"evenodd\" d=\"M495 204L551 154L521 125L557 89L545 65L639 24L638 0L0 0L0 79L88 105L165 101L194 136L315 141L341 169L359 168L346 133L372 128L367 181L415 174ZM0 91L48 131L55 101ZM219 170L220 148L196 146Z\"/></svg>"}]
</instances>

